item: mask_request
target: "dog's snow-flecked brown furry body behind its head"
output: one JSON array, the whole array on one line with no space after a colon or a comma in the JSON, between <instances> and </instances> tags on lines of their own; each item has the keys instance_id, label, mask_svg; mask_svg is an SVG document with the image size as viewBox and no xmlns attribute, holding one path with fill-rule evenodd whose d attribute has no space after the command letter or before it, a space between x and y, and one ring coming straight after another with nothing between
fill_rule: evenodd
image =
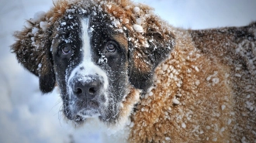
<instances>
[{"instance_id":1,"label":"dog's snow-flecked brown furry body behind its head","mask_svg":"<svg viewBox=\"0 0 256 143\"><path fill-rule=\"evenodd\" d=\"M157 67L153 95L147 93L133 114L130 141L256 141L256 61L249 63L246 53L236 53L243 43L256 57L255 23L174 31L175 48ZM174 98L180 104L173 104ZM248 102L253 104L251 109Z\"/></svg>"}]
</instances>

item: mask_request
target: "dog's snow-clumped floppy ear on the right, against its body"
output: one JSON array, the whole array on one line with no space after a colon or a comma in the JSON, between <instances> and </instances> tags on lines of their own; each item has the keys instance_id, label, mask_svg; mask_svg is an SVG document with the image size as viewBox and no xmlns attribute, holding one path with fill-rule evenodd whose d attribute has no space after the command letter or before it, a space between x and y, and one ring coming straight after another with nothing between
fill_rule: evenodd
<instances>
[{"instance_id":1,"label":"dog's snow-clumped floppy ear on the right, against its body","mask_svg":"<svg viewBox=\"0 0 256 143\"><path fill-rule=\"evenodd\" d=\"M147 90L153 83L155 68L165 60L175 45L175 36L153 16L146 20L144 32L129 42L129 76L134 87ZM166 24L166 23L165 23ZM136 26L136 25L135 25ZM140 27L139 27L140 28ZM133 26L136 31L136 27Z\"/></svg>"}]
</instances>

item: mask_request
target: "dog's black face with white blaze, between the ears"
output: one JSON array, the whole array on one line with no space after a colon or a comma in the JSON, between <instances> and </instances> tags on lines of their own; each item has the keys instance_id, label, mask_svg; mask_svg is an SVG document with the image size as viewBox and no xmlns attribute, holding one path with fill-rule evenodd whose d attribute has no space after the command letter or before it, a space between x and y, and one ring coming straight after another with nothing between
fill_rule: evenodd
<instances>
[{"instance_id":1,"label":"dog's black face with white blaze, between the ears","mask_svg":"<svg viewBox=\"0 0 256 143\"><path fill-rule=\"evenodd\" d=\"M52 54L68 119L115 121L129 89L128 40L101 16L64 16L57 23Z\"/></svg>"}]
</instances>

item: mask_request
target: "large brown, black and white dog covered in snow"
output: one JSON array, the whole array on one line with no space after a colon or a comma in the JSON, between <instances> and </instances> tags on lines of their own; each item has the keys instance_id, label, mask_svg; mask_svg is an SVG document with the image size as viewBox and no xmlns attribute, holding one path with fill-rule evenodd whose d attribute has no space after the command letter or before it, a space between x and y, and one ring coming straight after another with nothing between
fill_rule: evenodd
<instances>
[{"instance_id":1,"label":"large brown, black and white dog covered in snow","mask_svg":"<svg viewBox=\"0 0 256 143\"><path fill-rule=\"evenodd\" d=\"M185 30L152 11L62 0L12 52L76 125L99 119L130 142L255 142L256 23Z\"/></svg>"}]
</instances>

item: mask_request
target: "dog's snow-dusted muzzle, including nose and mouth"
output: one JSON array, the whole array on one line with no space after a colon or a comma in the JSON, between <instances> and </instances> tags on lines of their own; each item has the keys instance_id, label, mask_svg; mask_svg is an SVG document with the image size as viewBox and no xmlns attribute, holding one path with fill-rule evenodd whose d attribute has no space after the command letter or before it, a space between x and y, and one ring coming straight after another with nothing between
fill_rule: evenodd
<instances>
[{"instance_id":1,"label":"dog's snow-dusted muzzle, including nose and mouth","mask_svg":"<svg viewBox=\"0 0 256 143\"><path fill-rule=\"evenodd\" d=\"M104 80L98 74L95 75L77 75L70 83L71 87L71 120L82 117L95 117L100 115L102 105L106 102L104 96Z\"/></svg>"}]
</instances>

